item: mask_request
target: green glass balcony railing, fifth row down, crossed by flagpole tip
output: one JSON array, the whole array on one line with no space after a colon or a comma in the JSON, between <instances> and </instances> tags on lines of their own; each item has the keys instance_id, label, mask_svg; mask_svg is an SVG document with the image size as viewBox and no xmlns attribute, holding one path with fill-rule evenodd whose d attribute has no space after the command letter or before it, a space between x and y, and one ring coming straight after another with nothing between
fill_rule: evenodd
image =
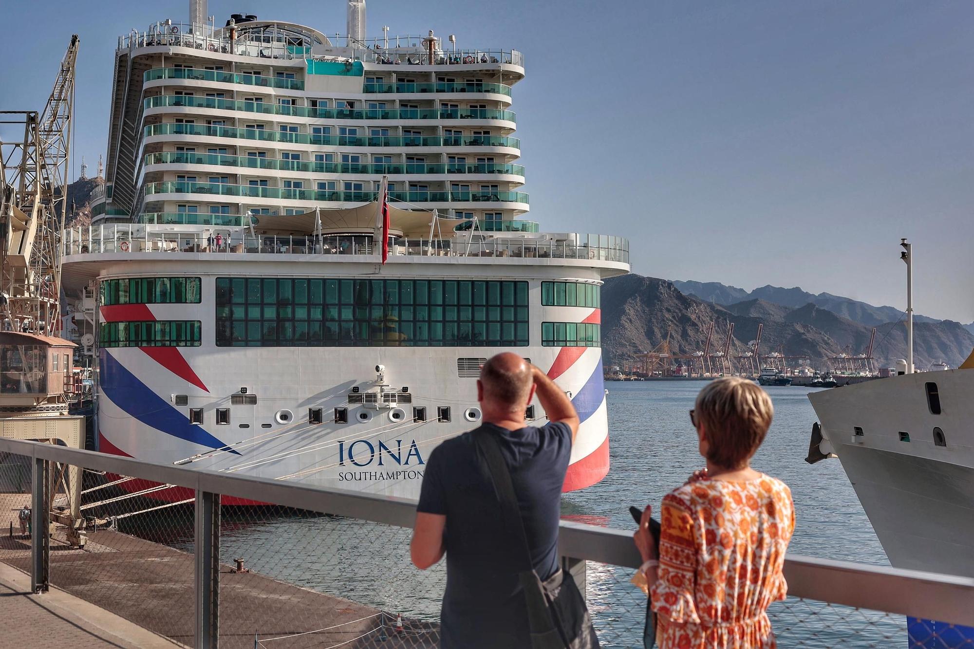
<instances>
[{"instance_id":1,"label":"green glass balcony railing, fifth row down, crossed by flagpole tip","mask_svg":"<svg viewBox=\"0 0 974 649\"><path fill-rule=\"evenodd\" d=\"M332 201L340 203L370 203L377 200L378 192L336 191L328 189L288 189L254 185L230 185L222 182L186 182L182 180L150 182L145 185L146 196L153 194L210 194L214 196L243 196L247 198L272 198L287 201ZM527 203L525 192L470 192L470 191L411 191L390 192L390 200L405 203Z\"/></svg>"}]
</instances>

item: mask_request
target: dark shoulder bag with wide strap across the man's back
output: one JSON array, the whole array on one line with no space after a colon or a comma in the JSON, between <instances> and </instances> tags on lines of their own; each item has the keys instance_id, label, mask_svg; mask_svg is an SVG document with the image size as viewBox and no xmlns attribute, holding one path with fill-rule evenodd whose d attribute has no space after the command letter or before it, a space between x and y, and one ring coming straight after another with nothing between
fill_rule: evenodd
<instances>
[{"instance_id":1,"label":"dark shoulder bag with wide strap across the man's back","mask_svg":"<svg viewBox=\"0 0 974 649\"><path fill-rule=\"evenodd\" d=\"M531 648L597 649L598 637L588 616L585 600L571 573L558 568L554 575L542 582L532 567L524 522L514 495L514 483L497 439L483 431L474 435L473 439L494 479L507 531L515 537L516 545L520 548L518 576L528 607Z\"/></svg>"}]
</instances>

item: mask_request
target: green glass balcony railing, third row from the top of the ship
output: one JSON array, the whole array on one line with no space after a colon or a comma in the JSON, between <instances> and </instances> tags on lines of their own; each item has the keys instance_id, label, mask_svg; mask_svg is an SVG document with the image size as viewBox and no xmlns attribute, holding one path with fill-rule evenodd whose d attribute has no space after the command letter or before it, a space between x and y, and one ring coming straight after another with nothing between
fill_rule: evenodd
<instances>
[{"instance_id":1,"label":"green glass balcony railing, third row from the top of the ship","mask_svg":"<svg viewBox=\"0 0 974 649\"><path fill-rule=\"evenodd\" d=\"M206 126L202 124L151 124L145 136L205 135L206 137L237 137L288 144L333 144L336 146L506 146L519 149L521 140L505 135L334 135L284 133L261 129Z\"/></svg>"}]
</instances>

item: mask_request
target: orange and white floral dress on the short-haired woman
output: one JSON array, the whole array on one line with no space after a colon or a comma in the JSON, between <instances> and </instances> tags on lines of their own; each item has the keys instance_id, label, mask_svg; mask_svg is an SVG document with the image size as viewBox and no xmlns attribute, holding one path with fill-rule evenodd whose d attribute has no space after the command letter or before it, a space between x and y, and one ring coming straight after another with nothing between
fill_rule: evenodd
<instances>
[{"instance_id":1,"label":"orange and white floral dress on the short-haired woman","mask_svg":"<svg viewBox=\"0 0 974 649\"><path fill-rule=\"evenodd\" d=\"M781 480L688 482L663 498L653 610L661 649L775 647L768 604L785 598L781 567L795 530Z\"/></svg>"}]
</instances>

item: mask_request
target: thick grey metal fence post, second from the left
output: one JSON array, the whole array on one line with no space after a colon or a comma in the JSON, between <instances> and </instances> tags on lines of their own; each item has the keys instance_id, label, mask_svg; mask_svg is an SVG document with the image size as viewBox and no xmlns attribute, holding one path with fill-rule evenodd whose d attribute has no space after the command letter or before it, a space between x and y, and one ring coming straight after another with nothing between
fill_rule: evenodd
<instances>
[{"instance_id":1,"label":"thick grey metal fence post, second from the left","mask_svg":"<svg viewBox=\"0 0 974 649\"><path fill-rule=\"evenodd\" d=\"M220 630L220 495L196 492L196 647L216 649Z\"/></svg>"}]
</instances>

